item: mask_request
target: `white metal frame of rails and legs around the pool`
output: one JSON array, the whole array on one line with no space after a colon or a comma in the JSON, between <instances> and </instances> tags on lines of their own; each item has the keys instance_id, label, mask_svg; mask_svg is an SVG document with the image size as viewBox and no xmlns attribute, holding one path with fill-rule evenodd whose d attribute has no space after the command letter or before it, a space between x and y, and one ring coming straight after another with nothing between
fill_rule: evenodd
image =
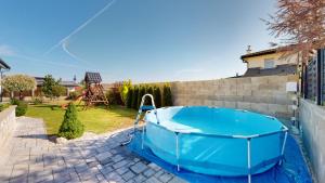
<instances>
[{"instance_id":1,"label":"white metal frame of rails and legs around the pool","mask_svg":"<svg viewBox=\"0 0 325 183\"><path fill-rule=\"evenodd\" d=\"M246 112L246 110L243 110ZM151 113L151 110L148 110L147 113ZM157 114L156 108L154 109L154 113ZM274 117L271 116L265 116L268 118L271 119L275 119ZM142 138L141 138L141 148L144 149L144 134L146 131L146 122L145 125L142 126ZM152 122L153 123L153 122ZM159 123L153 123L156 127L162 128L165 130L168 131L172 131L176 134L176 158L177 158L177 169L178 171L180 171L181 169L181 165L180 165L180 142L179 142L179 134L193 134L193 135L199 135L199 136L211 136L211 138L223 138L223 139L245 139L247 140L247 169L248 169L248 174L247 174L247 181L248 183L251 183L251 156L250 156L250 141L251 139L256 139L256 138L261 138L261 136L269 136L269 135L273 135L273 134L277 134L277 133L284 133L284 140L283 140L283 144L282 144L282 149L281 149L281 155L278 157L272 158L272 159L268 159L269 161L273 162L273 161L277 161L278 165L282 165L283 161L283 157L284 157L284 151L285 151L285 144L287 141L287 135L288 135L288 128L286 126L282 126L282 129L280 131L276 132L270 132L270 133L262 133L262 134L253 134L253 135L224 135L224 134L209 134L209 133L197 133L197 132L187 132L187 131L182 131L182 130L171 130L168 129L164 126L160 126ZM271 164L270 162L270 164Z\"/></svg>"}]
</instances>

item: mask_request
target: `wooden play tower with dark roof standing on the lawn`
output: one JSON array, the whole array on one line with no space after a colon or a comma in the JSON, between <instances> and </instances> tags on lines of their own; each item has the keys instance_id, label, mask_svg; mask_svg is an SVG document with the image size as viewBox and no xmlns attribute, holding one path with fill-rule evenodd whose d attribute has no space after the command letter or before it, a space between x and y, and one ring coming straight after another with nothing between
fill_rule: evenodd
<instances>
[{"instance_id":1,"label":"wooden play tower with dark roof standing on the lawn","mask_svg":"<svg viewBox=\"0 0 325 183\"><path fill-rule=\"evenodd\" d=\"M95 104L104 104L107 108L109 107L109 102L104 93L104 88L101 82L102 77L99 73L86 73L86 91L83 91L82 94L82 101L84 102L83 109Z\"/></svg>"}]
</instances>

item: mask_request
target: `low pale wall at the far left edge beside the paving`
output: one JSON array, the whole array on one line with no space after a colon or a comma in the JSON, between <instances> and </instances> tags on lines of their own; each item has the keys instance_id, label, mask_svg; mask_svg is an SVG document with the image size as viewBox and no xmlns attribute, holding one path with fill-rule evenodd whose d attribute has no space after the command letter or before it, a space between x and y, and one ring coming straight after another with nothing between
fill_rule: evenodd
<instances>
[{"instance_id":1,"label":"low pale wall at the far left edge beside the paving","mask_svg":"<svg viewBox=\"0 0 325 183\"><path fill-rule=\"evenodd\" d=\"M9 151L8 142L16 127L15 106L10 106L0 113L0 152ZM0 165L5 158L0 158Z\"/></svg>"}]
</instances>

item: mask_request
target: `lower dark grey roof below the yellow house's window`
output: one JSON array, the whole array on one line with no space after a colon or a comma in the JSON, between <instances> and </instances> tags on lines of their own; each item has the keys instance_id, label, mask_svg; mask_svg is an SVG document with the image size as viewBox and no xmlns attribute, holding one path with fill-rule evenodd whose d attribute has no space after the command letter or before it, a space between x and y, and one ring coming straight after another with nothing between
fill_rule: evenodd
<instances>
[{"instance_id":1,"label":"lower dark grey roof below the yellow house's window","mask_svg":"<svg viewBox=\"0 0 325 183\"><path fill-rule=\"evenodd\" d=\"M277 65L275 68L248 68L242 77L272 76L272 75L295 75L297 74L297 65L284 64Z\"/></svg>"}]
</instances>

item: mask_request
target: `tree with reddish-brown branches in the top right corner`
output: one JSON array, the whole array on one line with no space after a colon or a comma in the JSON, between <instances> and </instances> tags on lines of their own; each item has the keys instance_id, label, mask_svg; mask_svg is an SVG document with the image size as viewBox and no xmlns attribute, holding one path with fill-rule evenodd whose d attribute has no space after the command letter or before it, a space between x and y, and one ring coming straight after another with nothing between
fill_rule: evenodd
<instances>
[{"instance_id":1,"label":"tree with reddish-brown branches in the top right corner","mask_svg":"<svg viewBox=\"0 0 325 183\"><path fill-rule=\"evenodd\" d=\"M277 11L264 21L276 38L284 36L281 50L301 53L309 61L311 51L325 47L324 0L278 0Z\"/></svg>"}]
</instances>

